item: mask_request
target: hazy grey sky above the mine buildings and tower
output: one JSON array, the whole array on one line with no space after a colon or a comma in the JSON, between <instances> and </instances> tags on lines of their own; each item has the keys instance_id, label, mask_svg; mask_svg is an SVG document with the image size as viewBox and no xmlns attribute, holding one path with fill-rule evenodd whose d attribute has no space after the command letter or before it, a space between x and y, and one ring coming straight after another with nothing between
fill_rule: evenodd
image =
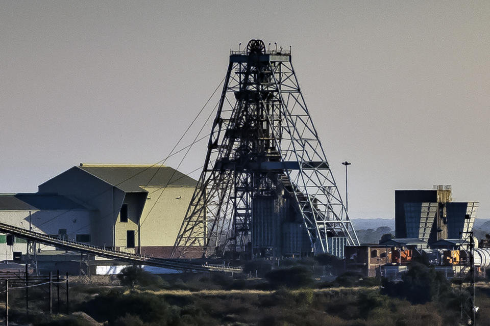
<instances>
[{"instance_id":1,"label":"hazy grey sky above the mine buildings and tower","mask_svg":"<svg viewBox=\"0 0 490 326\"><path fill-rule=\"evenodd\" d=\"M451 184L490 218L488 1L0 1L0 192L164 158L252 38L292 46L342 194L352 162L351 217ZM182 172L202 165L196 146Z\"/></svg>"}]
</instances>

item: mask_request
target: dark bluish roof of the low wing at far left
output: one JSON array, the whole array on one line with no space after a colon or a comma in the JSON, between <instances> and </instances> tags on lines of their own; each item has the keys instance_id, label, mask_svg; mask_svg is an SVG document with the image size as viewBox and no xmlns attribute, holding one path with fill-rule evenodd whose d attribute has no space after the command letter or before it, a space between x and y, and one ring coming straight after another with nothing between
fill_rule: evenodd
<instances>
[{"instance_id":1,"label":"dark bluish roof of the low wing at far left","mask_svg":"<svg viewBox=\"0 0 490 326\"><path fill-rule=\"evenodd\" d=\"M67 210L87 209L56 194L0 194L0 210Z\"/></svg>"}]
</instances>

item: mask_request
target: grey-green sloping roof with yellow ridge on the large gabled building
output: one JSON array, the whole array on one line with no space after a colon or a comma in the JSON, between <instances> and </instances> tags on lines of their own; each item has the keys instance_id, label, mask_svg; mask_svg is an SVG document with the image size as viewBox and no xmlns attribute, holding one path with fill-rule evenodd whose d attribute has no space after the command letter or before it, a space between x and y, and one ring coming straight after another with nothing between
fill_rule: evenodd
<instances>
[{"instance_id":1,"label":"grey-green sloping roof with yellow ridge on the large gabled building","mask_svg":"<svg viewBox=\"0 0 490 326\"><path fill-rule=\"evenodd\" d=\"M125 192L142 192L142 186L195 186L193 178L166 166L84 165L80 169Z\"/></svg>"}]
</instances>

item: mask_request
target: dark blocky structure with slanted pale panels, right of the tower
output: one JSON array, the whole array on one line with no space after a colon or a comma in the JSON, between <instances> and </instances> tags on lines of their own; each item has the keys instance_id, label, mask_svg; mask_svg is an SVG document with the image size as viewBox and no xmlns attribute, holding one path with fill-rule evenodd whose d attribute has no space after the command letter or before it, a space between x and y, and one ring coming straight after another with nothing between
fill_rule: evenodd
<instances>
[{"instance_id":1,"label":"dark blocky structure with slanted pale panels, right of the tower","mask_svg":"<svg viewBox=\"0 0 490 326\"><path fill-rule=\"evenodd\" d=\"M459 238L459 232L472 230L477 210L477 202L454 202L449 185L432 190L396 190L395 237L429 244Z\"/></svg>"}]
</instances>

